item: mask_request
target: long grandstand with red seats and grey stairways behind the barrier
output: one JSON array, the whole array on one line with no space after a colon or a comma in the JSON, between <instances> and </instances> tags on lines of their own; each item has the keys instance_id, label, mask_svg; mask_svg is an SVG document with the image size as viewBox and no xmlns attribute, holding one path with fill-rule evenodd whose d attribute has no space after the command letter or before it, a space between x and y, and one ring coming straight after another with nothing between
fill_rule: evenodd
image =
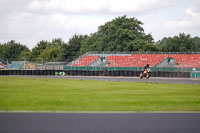
<instances>
[{"instance_id":1,"label":"long grandstand with red seats and grey stairways behind the barrier","mask_svg":"<svg viewBox=\"0 0 200 133\"><path fill-rule=\"evenodd\" d=\"M76 67L138 68L149 64L151 68L200 68L200 53L155 52L88 52L73 61Z\"/></svg>"}]
</instances>

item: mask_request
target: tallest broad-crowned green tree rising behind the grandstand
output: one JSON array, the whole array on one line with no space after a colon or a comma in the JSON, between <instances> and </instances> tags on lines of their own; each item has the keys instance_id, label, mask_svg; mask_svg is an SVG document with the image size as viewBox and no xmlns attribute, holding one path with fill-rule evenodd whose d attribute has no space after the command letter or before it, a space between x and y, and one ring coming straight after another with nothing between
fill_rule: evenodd
<instances>
[{"instance_id":1,"label":"tallest broad-crowned green tree rising behind the grandstand","mask_svg":"<svg viewBox=\"0 0 200 133\"><path fill-rule=\"evenodd\" d=\"M142 22L136 18L118 17L98 28L84 42L81 53L87 51L152 51L158 50L153 37L145 34Z\"/></svg>"}]
</instances>

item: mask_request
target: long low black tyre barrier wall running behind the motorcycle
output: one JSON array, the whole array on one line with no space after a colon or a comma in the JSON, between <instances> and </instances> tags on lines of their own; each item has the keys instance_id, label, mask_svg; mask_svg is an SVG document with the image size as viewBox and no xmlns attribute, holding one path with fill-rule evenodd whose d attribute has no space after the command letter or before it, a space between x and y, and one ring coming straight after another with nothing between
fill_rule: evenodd
<instances>
[{"instance_id":1,"label":"long low black tyre barrier wall running behind the motorcycle","mask_svg":"<svg viewBox=\"0 0 200 133\"><path fill-rule=\"evenodd\" d=\"M0 75L41 75L55 76L65 72L70 76L126 76L139 77L140 71L86 71L86 70L0 70ZM190 72L151 72L151 77L190 78Z\"/></svg>"}]
</instances>

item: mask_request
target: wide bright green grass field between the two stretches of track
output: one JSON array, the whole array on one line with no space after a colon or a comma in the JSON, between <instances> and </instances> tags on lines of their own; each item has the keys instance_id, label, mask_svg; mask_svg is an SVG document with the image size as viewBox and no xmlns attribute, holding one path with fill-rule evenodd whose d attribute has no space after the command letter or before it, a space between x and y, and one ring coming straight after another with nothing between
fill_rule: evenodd
<instances>
[{"instance_id":1,"label":"wide bright green grass field between the two stretches of track","mask_svg":"<svg viewBox=\"0 0 200 133\"><path fill-rule=\"evenodd\" d=\"M200 85L0 76L0 110L200 111Z\"/></svg>"}]
</instances>

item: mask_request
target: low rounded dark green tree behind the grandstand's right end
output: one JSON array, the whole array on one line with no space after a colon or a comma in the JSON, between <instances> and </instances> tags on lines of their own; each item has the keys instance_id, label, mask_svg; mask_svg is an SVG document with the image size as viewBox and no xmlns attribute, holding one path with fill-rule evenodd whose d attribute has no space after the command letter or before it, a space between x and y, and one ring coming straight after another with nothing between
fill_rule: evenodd
<instances>
[{"instance_id":1,"label":"low rounded dark green tree behind the grandstand's right end","mask_svg":"<svg viewBox=\"0 0 200 133\"><path fill-rule=\"evenodd\" d=\"M191 52L196 51L195 43L190 35L180 33L179 36L163 38L158 46L164 52Z\"/></svg>"}]
</instances>

